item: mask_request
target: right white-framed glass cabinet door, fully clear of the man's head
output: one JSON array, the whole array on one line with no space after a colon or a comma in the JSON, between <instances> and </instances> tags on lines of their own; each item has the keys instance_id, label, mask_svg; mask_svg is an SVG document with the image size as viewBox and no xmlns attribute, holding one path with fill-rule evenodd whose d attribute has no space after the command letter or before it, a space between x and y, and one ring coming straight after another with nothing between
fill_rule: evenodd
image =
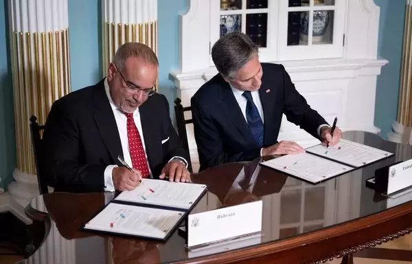
<instances>
[{"instance_id":1,"label":"right white-framed glass cabinet door, fully clear of the man's head","mask_svg":"<svg viewBox=\"0 0 412 264\"><path fill-rule=\"evenodd\" d=\"M343 56L344 14L345 0L280 0L279 60Z\"/></svg>"}]
</instances>

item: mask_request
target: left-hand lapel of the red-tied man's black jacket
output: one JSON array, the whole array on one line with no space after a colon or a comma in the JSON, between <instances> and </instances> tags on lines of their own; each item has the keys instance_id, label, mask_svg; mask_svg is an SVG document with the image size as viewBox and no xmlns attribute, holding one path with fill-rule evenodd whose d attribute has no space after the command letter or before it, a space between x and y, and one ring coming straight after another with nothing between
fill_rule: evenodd
<instances>
[{"instance_id":1,"label":"left-hand lapel of the red-tied man's black jacket","mask_svg":"<svg viewBox=\"0 0 412 264\"><path fill-rule=\"evenodd\" d=\"M110 102L104 90L103 80L95 86L93 91L94 113L93 118L102 136L104 145L111 156L113 164L117 164L117 155L123 156L122 143L119 131L111 109Z\"/></svg>"}]
</instances>

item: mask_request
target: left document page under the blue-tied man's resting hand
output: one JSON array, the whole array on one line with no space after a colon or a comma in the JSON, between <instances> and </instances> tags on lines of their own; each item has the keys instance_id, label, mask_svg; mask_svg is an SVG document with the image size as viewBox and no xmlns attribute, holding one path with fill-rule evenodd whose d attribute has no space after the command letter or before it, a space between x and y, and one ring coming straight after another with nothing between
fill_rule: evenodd
<instances>
[{"instance_id":1,"label":"left document page under the blue-tied man's resting hand","mask_svg":"<svg viewBox=\"0 0 412 264\"><path fill-rule=\"evenodd\" d=\"M261 164L312 183L317 183L354 169L310 153L284 155Z\"/></svg>"}]
</instances>

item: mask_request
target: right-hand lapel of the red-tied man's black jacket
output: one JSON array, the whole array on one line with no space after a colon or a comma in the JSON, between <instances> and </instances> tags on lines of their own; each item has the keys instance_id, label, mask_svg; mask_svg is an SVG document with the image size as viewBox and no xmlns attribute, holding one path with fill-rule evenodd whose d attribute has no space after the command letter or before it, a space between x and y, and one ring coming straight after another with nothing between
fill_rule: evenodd
<instances>
[{"instance_id":1,"label":"right-hand lapel of the red-tied man's black jacket","mask_svg":"<svg viewBox=\"0 0 412 264\"><path fill-rule=\"evenodd\" d=\"M139 107L141 129L143 130L144 144L148 155L148 162L156 164L156 157L163 157L161 140L159 140L159 126L156 126L156 119L153 118L155 109L152 109L150 98ZM153 170L152 167L150 167Z\"/></svg>"}]
</instances>

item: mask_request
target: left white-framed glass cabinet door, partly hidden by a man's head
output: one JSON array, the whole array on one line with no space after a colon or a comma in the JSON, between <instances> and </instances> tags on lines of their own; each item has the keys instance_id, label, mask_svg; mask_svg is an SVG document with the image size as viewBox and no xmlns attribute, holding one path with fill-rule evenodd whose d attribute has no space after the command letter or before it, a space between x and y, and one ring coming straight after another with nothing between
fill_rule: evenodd
<instances>
[{"instance_id":1,"label":"left white-framed glass cabinet door, partly hidden by a man's head","mask_svg":"<svg viewBox=\"0 0 412 264\"><path fill-rule=\"evenodd\" d=\"M260 53L263 53L261 57L270 61L267 54L270 54L269 49L275 47L271 30L276 19L273 10L277 10L277 6L277 1L271 0L211 0L210 46L221 36L240 31L258 45ZM275 55L275 52L272 54Z\"/></svg>"}]
</instances>

